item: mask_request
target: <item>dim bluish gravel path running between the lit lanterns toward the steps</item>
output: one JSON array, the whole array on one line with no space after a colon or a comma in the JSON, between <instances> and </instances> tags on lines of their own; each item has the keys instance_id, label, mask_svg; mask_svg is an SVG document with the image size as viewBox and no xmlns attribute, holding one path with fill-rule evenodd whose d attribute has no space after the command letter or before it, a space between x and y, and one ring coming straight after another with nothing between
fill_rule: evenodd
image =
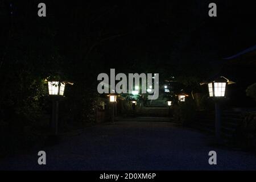
<instances>
[{"instance_id":1,"label":"dim bluish gravel path running between the lit lanterns toward the steps","mask_svg":"<svg viewBox=\"0 0 256 182\"><path fill-rule=\"evenodd\" d=\"M4 170L244 170L256 169L256 156L213 147L209 137L169 122L116 122L88 127L45 147L47 165L38 151L0 160ZM217 165L208 152L217 152Z\"/></svg>"}]
</instances>

